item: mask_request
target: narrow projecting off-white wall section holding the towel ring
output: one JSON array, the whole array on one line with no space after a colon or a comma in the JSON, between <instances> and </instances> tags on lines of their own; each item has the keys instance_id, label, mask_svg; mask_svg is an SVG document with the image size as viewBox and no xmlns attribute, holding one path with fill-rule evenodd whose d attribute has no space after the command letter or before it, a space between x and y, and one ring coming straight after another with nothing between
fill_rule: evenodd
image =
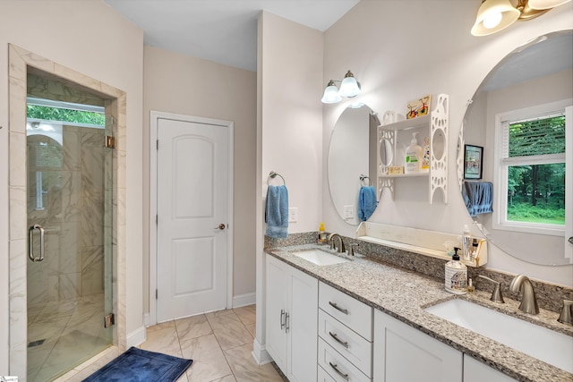
<instances>
[{"instance_id":1,"label":"narrow projecting off-white wall section holding the towel ring","mask_svg":"<svg viewBox=\"0 0 573 382\"><path fill-rule=\"evenodd\" d=\"M269 360L263 352L263 202L269 172L276 171L285 178L289 206L298 208L298 221L289 224L288 233L316 231L321 221L322 115L321 96L317 94L322 91L323 35L267 12L259 17L258 34L257 327L253 354L264 362Z\"/></svg>"}]
</instances>

